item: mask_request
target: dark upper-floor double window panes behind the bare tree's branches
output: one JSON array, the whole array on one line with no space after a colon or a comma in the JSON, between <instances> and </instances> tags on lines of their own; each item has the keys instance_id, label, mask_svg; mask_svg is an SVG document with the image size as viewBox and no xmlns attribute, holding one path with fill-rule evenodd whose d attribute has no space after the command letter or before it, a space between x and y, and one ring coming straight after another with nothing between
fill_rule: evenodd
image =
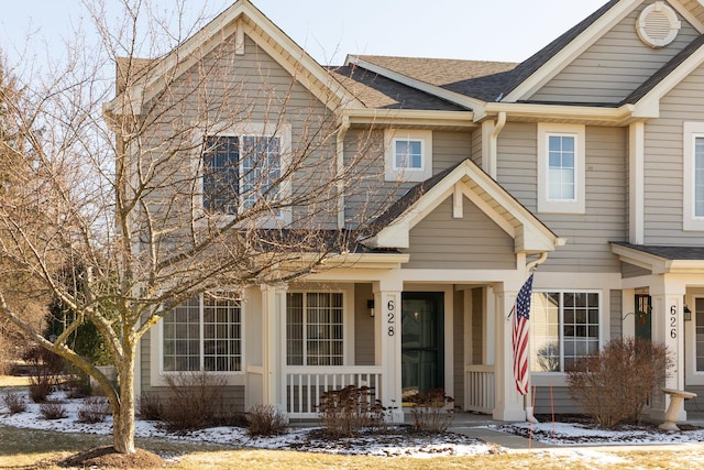
<instances>
[{"instance_id":1,"label":"dark upper-floor double window panes behind the bare tree's branches","mask_svg":"<svg viewBox=\"0 0 704 470\"><path fill-rule=\"evenodd\" d=\"M208 212L235 215L258 200L280 201L280 138L211 135L205 139L202 205ZM279 210L275 209L278 217Z\"/></svg>"}]
</instances>

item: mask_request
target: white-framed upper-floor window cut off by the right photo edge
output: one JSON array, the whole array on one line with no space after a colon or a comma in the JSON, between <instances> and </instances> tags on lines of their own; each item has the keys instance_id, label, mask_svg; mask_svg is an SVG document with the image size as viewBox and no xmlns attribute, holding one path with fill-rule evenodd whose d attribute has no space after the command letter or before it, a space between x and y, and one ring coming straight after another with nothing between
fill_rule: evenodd
<instances>
[{"instance_id":1,"label":"white-framed upper-floor window cut off by the right photo edge","mask_svg":"<svg viewBox=\"0 0 704 470\"><path fill-rule=\"evenodd\" d=\"M684 230L704 230L704 122L685 122L683 129Z\"/></svg>"}]
</instances>

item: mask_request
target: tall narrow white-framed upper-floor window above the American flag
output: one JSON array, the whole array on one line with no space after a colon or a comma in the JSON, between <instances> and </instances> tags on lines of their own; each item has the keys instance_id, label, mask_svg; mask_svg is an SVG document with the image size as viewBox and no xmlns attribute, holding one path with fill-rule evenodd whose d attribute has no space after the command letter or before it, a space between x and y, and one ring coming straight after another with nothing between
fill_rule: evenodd
<instances>
[{"instance_id":1,"label":"tall narrow white-framed upper-floor window above the American flag","mask_svg":"<svg viewBox=\"0 0 704 470\"><path fill-rule=\"evenodd\" d=\"M584 214L585 127L538 124L538 211Z\"/></svg>"}]
</instances>

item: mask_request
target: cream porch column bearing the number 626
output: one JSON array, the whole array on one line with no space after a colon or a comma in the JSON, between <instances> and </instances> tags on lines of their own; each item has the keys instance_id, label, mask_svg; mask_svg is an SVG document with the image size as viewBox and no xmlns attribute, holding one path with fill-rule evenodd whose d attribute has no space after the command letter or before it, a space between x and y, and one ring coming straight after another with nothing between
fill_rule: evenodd
<instances>
[{"instance_id":1,"label":"cream porch column bearing the number 626","mask_svg":"<svg viewBox=\"0 0 704 470\"><path fill-rule=\"evenodd\" d=\"M669 275L660 276L662 282L650 286L652 299L652 341L663 343L674 361L674 367L666 378L667 389L684 390L684 317L683 298L686 287L681 281ZM664 419L670 405L670 396L659 389L653 393L650 417ZM680 406L680 420L686 419L684 403Z\"/></svg>"}]
</instances>

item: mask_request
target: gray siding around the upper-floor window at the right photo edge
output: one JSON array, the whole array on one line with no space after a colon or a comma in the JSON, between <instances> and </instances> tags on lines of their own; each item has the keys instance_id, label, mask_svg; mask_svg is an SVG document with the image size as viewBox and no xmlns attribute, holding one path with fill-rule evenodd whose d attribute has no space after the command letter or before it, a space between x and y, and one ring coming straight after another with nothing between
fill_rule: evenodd
<instances>
[{"instance_id":1,"label":"gray siding around the upper-floor window at the right photo edge","mask_svg":"<svg viewBox=\"0 0 704 470\"><path fill-rule=\"evenodd\" d=\"M704 121L704 67L660 101L660 119L646 124L645 242L702 244L701 231L684 231L683 122Z\"/></svg>"}]
</instances>

